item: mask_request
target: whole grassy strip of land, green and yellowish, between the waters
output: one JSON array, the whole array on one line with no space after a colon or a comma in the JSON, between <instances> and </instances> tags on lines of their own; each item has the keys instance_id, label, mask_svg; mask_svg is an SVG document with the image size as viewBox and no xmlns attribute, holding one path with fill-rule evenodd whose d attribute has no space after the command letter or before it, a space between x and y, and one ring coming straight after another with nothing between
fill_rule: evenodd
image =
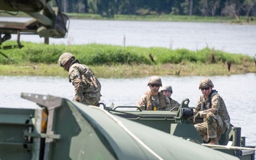
<instances>
[{"instance_id":1,"label":"whole grassy strip of land, green and yellowish, between the waters","mask_svg":"<svg viewBox=\"0 0 256 160\"><path fill-rule=\"evenodd\" d=\"M255 60L248 55L225 53L213 48L186 50L123 47L100 44L45 45L21 42L21 49L2 50L0 75L43 75L67 77L58 66L64 52L75 55L98 78L138 78L150 75L232 75L256 73ZM14 45L15 41L5 45ZM153 58L153 60L151 60ZM228 71L228 63L231 63Z\"/></svg>"}]
</instances>

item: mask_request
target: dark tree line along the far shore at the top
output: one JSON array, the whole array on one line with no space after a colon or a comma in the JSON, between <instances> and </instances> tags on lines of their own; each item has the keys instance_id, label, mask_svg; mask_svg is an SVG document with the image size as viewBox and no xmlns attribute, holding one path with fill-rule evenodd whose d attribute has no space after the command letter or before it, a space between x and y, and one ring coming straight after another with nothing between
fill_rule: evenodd
<instances>
[{"instance_id":1,"label":"dark tree line along the far shore at the top","mask_svg":"<svg viewBox=\"0 0 256 160\"><path fill-rule=\"evenodd\" d=\"M256 16L256 0L57 0L68 13L190 16Z\"/></svg>"}]
</instances>

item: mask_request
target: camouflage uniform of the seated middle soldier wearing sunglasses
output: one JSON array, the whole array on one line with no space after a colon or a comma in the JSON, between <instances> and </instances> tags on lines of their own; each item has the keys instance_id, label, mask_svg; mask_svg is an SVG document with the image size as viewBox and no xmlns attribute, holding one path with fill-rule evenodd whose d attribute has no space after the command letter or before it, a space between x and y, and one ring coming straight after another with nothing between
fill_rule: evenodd
<instances>
[{"instance_id":1,"label":"camouflage uniform of the seated middle soldier wearing sunglasses","mask_svg":"<svg viewBox=\"0 0 256 160\"><path fill-rule=\"evenodd\" d=\"M171 110L171 103L168 97L162 95L151 95L150 91L147 91L137 103L137 106L142 110Z\"/></svg>"}]
</instances>

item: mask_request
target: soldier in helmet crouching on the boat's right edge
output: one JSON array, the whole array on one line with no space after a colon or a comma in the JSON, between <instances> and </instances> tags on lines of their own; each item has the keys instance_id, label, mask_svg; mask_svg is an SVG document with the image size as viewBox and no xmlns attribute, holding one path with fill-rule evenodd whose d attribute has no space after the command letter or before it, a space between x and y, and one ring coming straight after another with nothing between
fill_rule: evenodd
<instances>
[{"instance_id":1,"label":"soldier in helmet crouching on the boat's right edge","mask_svg":"<svg viewBox=\"0 0 256 160\"><path fill-rule=\"evenodd\" d=\"M195 122L198 117L203 119L202 123L194 126L204 142L219 144L221 135L230 127L230 117L223 98L218 91L213 90L213 87L213 82L209 78L203 78L199 82L202 95L194 109L193 120Z\"/></svg>"}]
</instances>

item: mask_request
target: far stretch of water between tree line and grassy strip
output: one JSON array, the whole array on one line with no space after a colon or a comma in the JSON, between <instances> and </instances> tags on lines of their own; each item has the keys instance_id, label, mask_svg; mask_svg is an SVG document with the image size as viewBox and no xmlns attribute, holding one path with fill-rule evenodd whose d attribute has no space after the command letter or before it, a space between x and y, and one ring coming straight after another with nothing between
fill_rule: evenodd
<instances>
[{"instance_id":1,"label":"far stretch of water between tree line and grassy strip","mask_svg":"<svg viewBox=\"0 0 256 160\"><path fill-rule=\"evenodd\" d=\"M30 18L0 17L0 21L26 22ZM50 38L56 44L100 43L124 46L215 48L229 53L255 55L256 25L163 21L70 20L67 38ZM13 35L12 40L16 41ZM21 36L21 41L43 43L39 36Z\"/></svg>"}]
</instances>

